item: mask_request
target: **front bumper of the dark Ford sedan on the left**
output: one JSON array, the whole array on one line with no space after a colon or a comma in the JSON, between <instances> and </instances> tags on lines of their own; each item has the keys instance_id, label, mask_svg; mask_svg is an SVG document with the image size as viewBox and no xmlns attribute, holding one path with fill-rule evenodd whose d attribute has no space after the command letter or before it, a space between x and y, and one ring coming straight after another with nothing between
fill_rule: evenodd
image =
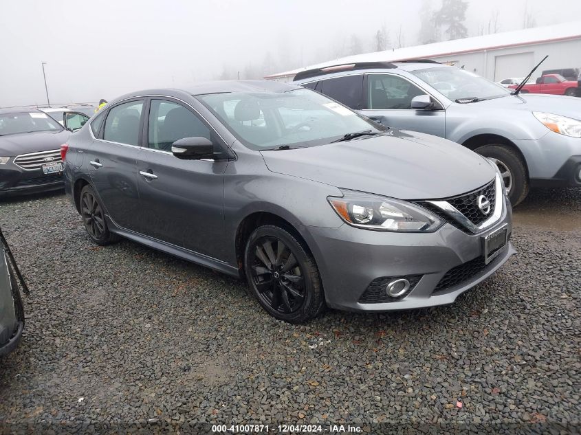
<instances>
[{"instance_id":1,"label":"front bumper of the dark Ford sedan on the left","mask_svg":"<svg viewBox=\"0 0 581 435\"><path fill-rule=\"evenodd\" d=\"M44 175L41 169L25 170L10 160L0 165L0 197L10 194L30 194L60 190L64 187L63 174Z\"/></svg>"}]
</instances>

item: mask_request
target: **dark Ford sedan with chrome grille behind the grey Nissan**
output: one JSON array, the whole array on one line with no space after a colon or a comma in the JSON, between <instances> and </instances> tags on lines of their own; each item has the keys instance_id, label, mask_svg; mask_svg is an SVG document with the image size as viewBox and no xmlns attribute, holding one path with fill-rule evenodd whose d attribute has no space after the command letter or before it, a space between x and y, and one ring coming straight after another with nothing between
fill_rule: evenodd
<instances>
[{"instance_id":1,"label":"dark Ford sedan with chrome grille behind the grey Nissan","mask_svg":"<svg viewBox=\"0 0 581 435\"><path fill-rule=\"evenodd\" d=\"M0 197L62 189L61 144L69 135L42 111L0 110Z\"/></svg>"}]
</instances>

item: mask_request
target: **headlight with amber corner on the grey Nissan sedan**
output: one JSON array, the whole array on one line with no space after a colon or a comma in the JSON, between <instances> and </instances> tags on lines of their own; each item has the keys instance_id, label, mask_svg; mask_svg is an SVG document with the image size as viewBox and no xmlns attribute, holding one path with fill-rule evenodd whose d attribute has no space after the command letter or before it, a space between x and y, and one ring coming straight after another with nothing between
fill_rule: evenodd
<instances>
[{"instance_id":1,"label":"headlight with amber corner on the grey Nissan sedan","mask_svg":"<svg viewBox=\"0 0 581 435\"><path fill-rule=\"evenodd\" d=\"M344 190L329 203L349 225L367 230L432 232L442 224L437 216L406 201Z\"/></svg>"}]
</instances>

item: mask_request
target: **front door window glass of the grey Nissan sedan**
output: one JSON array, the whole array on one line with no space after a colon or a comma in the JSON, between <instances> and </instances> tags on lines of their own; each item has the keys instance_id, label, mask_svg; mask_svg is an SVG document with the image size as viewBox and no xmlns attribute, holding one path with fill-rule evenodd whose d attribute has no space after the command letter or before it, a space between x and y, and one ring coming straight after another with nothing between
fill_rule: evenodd
<instances>
[{"instance_id":1,"label":"front door window glass of the grey Nissan sedan","mask_svg":"<svg viewBox=\"0 0 581 435\"><path fill-rule=\"evenodd\" d=\"M184 137L212 140L210 129L194 113L167 100L151 100L148 136L149 148L163 151L171 151L171 144Z\"/></svg>"}]
</instances>

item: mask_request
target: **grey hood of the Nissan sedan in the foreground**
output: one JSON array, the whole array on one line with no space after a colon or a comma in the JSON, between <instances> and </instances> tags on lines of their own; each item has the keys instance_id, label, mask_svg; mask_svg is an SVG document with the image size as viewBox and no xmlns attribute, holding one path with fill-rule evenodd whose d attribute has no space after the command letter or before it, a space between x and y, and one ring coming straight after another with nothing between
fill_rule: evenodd
<instances>
[{"instance_id":1,"label":"grey hood of the Nissan sedan in the foreground","mask_svg":"<svg viewBox=\"0 0 581 435\"><path fill-rule=\"evenodd\" d=\"M311 148L262 151L272 172L399 199L439 199L494 178L487 161L441 137L390 130Z\"/></svg>"}]
</instances>

